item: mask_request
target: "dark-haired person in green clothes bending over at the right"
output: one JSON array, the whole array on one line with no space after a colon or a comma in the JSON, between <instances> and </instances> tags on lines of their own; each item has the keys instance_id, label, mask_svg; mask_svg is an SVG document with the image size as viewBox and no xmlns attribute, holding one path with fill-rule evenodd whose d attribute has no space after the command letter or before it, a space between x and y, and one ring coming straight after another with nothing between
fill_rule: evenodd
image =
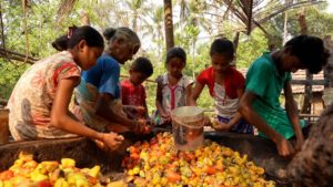
<instances>
[{"instance_id":1,"label":"dark-haired person in green clothes bending over at the right","mask_svg":"<svg viewBox=\"0 0 333 187\"><path fill-rule=\"evenodd\" d=\"M245 94L239 112L276 145L282 156L291 156L304 142L297 107L291 89L291 72L309 70L319 73L326 64L329 52L316 37L299 35L287 41L282 50L264 53L246 73ZM285 111L279 97L284 91ZM287 141L295 136L295 147Z\"/></svg>"}]
</instances>

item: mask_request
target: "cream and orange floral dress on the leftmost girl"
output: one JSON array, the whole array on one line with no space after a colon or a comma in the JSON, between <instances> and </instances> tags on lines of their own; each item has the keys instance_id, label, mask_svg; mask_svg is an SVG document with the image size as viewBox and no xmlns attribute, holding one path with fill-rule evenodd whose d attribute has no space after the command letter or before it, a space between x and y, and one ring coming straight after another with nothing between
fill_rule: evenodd
<instances>
[{"instance_id":1,"label":"cream and orange floral dress on the leftmost girl","mask_svg":"<svg viewBox=\"0 0 333 187\"><path fill-rule=\"evenodd\" d=\"M16 141L77 136L51 125L51 108L60 80L80 77L70 52L63 51L30 66L9 98L9 128Z\"/></svg>"}]
</instances>

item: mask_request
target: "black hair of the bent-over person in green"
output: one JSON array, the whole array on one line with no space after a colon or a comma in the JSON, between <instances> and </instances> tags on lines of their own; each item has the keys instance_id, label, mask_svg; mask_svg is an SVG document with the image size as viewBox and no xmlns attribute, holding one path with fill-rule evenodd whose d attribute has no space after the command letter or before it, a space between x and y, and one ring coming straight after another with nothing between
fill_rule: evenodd
<instances>
[{"instance_id":1,"label":"black hair of the bent-over person in green","mask_svg":"<svg viewBox=\"0 0 333 187\"><path fill-rule=\"evenodd\" d=\"M311 35L297 35L284 44L290 46L291 54L299 58L310 73L319 73L327 63L329 51L322 39Z\"/></svg>"}]
</instances>

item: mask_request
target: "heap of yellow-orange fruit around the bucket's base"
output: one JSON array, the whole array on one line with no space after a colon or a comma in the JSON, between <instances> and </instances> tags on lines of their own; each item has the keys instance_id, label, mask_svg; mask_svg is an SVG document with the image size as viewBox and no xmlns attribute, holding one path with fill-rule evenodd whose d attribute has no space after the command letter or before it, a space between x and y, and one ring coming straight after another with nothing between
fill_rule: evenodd
<instances>
[{"instance_id":1,"label":"heap of yellow-orange fruit around the bucket's base","mask_svg":"<svg viewBox=\"0 0 333 187\"><path fill-rule=\"evenodd\" d=\"M137 187L271 187L264 169L248 156L218 143L205 141L195 152L180 152L170 133L158 134L150 142L135 143L124 158L129 181Z\"/></svg>"}]
</instances>

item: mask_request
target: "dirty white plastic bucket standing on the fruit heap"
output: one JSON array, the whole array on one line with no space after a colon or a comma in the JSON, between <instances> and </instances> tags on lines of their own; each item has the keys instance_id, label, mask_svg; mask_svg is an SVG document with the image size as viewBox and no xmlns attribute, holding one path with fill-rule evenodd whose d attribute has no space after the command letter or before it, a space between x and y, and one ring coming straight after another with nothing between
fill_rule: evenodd
<instances>
[{"instance_id":1,"label":"dirty white plastic bucket standing on the fruit heap","mask_svg":"<svg viewBox=\"0 0 333 187\"><path fill-rule=\"evenodd\" d=\"M194 150L203 144L203 111L182 106L171 112L174 145L180 150Z\"/></svg>"}]
</instances>

